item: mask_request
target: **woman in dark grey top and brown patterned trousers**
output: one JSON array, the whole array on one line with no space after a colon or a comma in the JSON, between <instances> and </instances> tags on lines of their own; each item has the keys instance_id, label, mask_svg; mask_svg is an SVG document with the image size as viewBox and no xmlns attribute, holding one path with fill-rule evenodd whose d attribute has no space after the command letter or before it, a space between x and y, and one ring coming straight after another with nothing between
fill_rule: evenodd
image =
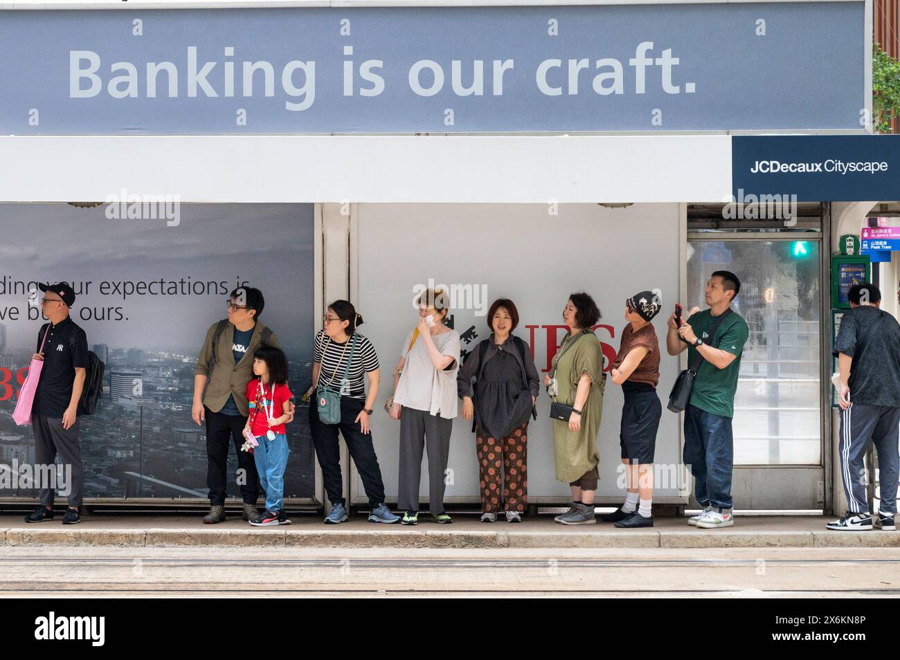
<instances>
[{"instance_id":1,"label":"woman in dark grey top and brown patterned trousers","mask_svg":"<svg viewBox=\"0 0 900 660\"><path fill-rule=\"evenodd\" d=\"M498 511L507 522L521 522L528 502L528 416L540 379L527 344L512 334L518 326L515 303L495 300L488 321L493 332L469 353L456 386L463 418L475 418L482 522L496 522Z\"/></svg>"}]
</instances>

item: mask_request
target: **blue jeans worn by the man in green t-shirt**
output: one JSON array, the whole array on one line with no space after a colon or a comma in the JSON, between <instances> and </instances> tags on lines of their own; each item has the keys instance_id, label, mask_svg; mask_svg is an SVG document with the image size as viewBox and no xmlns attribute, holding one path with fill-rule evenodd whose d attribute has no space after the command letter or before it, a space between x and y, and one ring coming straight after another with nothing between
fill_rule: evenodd
<instances>
[{"instance_id":1,"label":"blue jeans worn by the man in green t-shirt","mask_svg":"<svg viewBox=\"0 0 900 660\"><path fill-rule=\"evenodd\" d=\"M734 437L731 417L714 415L697 406L684 411L684 464L694 476L701 506L731 509Z\"/></svg>"}]
</instances>

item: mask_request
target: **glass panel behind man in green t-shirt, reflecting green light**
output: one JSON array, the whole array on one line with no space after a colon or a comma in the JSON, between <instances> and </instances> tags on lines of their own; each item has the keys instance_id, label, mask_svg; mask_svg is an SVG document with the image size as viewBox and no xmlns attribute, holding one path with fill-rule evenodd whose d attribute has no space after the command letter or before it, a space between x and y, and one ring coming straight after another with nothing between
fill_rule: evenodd
<instances>
[{"instance_id":1,"label":"glass panel behind man in green t-shirt, reflecting green light","mask_svg":"<svg viewBox=\"0 0 900 660\"><path fill-rule=\"evenodd\" d=\"M686 309L705 308L716 270L734 272L734 310L747 321L734 397L735 465L818 465L819 244L815 241L690 241Z\"/></svg>"}]
</instances>

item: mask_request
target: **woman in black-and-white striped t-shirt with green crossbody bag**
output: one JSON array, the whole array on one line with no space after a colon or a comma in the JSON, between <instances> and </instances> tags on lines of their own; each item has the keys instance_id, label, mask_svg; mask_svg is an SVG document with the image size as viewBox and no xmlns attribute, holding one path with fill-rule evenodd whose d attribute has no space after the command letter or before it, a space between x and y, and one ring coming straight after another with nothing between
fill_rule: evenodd
<instances>
[{"instance_id":1,"label":"woman in black-and-white striped t-shirt with green crossbody bag","mask_svg":"<svg viewBox=\"0 0 900 660\"><path fill-rule=\"evenodd\" d=\"M310 430L316 457L322 468L322 479L331 502L331 512L325 522L337 524L347 520L347 500L344 499L344 480L340 469L338 432L347 442L347 450L363 479L365 495L372 504L369 522L397 522L400 518L384 504L382 470L372 443L369 417L378 397L380 370L378 355L372 343L356 326L363 317L347 300L335 300L325 314L324 329L316 334L312 353L312 382L307 392L311 396L317 385L340 390L341 419L338 424L323 424L315 401L310 404ZM348 366L349 364L349 366ZM347 377L345 379L345 373ZM366 395L364 377L369 382Z\"/></svg>"}]
</instances>

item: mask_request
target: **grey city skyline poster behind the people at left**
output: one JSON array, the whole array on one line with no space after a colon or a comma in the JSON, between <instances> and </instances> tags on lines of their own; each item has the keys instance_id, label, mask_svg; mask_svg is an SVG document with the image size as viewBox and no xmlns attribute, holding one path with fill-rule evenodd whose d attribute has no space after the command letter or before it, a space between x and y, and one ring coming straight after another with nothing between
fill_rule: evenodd
<instances>
[{"instance_id":1,"label":"grey city skyline poster behind the people at left","mask_svg":"<svg viewBox=\"0 0 900 660\"><path fill-rule=\"evenodd\" d=\"M33 463L31 427L11 417L45 322L42 294L31 291L36 281L67 281L76 291L71 317L106 364L97 410L81 416L85 495L204 498L206 432L191 419L193 371L238 284L263 290L260 320L287 354L298 403L309 387L313 207L178 204L136 219L121 217L119 206L0 205L0 462ZM306 415L289 425L288 441L285 495L311 497ZM233 451L230 463L234 475ZM232 478L229 495L236 492Z\"/></svg>"}]
</instances>

